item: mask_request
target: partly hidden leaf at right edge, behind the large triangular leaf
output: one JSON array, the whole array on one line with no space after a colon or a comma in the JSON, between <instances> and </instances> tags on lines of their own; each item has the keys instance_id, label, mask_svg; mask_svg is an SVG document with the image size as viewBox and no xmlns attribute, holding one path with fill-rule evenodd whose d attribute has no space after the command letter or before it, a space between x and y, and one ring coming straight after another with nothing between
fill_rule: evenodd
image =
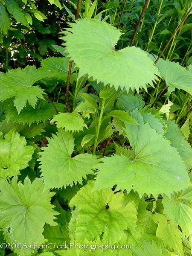
<instances>
[{"instance_id":1,"label":"partly hidden leaf at right edge, behind the large triangular leaf","mask_svg":"<svg viewBox=\"0 0 192 256\"><path fill-rule=\"evenodd\" d=\"M180 131L178 125L175 124L175 121L170 119L167 122L167 130L165 137L170 141L171 146L177 148L180 157L183 159L183 162L188 168L192 167L192 148L189 143L187 143L185 137Z\"/></svg>"}]
</instances>

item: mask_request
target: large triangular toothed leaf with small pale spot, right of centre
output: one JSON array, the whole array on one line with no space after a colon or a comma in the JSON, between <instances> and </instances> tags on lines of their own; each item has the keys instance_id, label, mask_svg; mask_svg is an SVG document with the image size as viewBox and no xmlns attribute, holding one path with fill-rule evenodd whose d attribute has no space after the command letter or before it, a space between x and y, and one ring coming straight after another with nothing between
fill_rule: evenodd
<instances>
[{"instance_id":1,"label":"large triangular toothed leaf with small pale spot, right of centre","mask_svg":"<svg viewBox=\"0 0 192 256\"><path fill-rule=\"evenodd\" d=\"M157 134L148 123L144 124L139 111L132 117L138 126L125 123L125 133L134 151L134 157L114 155L102 159L96 168L94 190L111 188L117 190L134 189L140 197L146 193L157 198L158 194L171 195L172 192L185 189L189 185L189 176L183 161L175 148L162 135ZM169 184L165 186L164 184Z\"/></svg>"}]
</instances>

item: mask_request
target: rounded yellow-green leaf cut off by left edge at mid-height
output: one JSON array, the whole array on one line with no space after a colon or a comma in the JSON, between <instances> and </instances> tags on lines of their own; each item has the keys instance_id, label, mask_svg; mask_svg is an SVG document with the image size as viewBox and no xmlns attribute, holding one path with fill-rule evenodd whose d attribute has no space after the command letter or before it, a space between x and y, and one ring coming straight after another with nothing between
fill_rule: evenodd
<instances>
[{"instance_id":1,"label":"rounded yellow-green leaf cut off by left edge at mid-height","mask_svg":"<svg viewBox=\"0 0 192 256\"><path fill-rule=\"evenodd\" d=\"M25 138L20 137L13 130L9 131L4 139L1 136L0 142L2 146L0 154L1 177L6 179L7 177L19 175L19 170L25 169L32 159L34 148L26 146Z\"/></svg>"}]
</instances>

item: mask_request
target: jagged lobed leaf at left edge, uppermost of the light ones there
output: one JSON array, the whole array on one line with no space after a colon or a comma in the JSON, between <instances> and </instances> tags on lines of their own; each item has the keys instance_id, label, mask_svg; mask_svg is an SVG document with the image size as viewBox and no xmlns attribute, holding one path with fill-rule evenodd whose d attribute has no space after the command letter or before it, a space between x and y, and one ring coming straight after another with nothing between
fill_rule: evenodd
<instances>
[{"instance_id":1,"label":"jagged lobed leaf at left edge, uppermost of the light ones there","mask_svg":"<svg viewBox=\"0 0 192 256\"><path fill-rule=\"evenodd\" d=\"M23 109L26 102L35 108L38 98L44 99L44 90L39 86L32 86L36 81L51 76L49 70L36 69L35 66L27 66L25 69L17 68L7 73L0 73L1 94L0 100L15 97L17 112Z\"/></svg>"}]
</instances>

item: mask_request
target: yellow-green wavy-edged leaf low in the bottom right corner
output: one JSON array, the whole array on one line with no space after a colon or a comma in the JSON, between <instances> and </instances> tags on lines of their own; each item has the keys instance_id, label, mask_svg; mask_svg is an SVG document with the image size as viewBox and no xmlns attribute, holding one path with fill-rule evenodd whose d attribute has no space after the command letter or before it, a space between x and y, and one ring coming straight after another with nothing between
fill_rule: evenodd
<instances>
[{"instance_id":1,"label":"yellow-green wavy-edged leaf low in the bottom right corner","mask_svg":"<svg viewBox=\"0 0 192 256\"><path fill-rule=\"evenodd\" d=\"M154 221L158 224L156 236L163 239L163 244L168 250L174 250L178 255L183 255L181 233L177 225L174 225L172 218L167 221L165 215L156 213Z\"/></svg>"}]
</instances>

